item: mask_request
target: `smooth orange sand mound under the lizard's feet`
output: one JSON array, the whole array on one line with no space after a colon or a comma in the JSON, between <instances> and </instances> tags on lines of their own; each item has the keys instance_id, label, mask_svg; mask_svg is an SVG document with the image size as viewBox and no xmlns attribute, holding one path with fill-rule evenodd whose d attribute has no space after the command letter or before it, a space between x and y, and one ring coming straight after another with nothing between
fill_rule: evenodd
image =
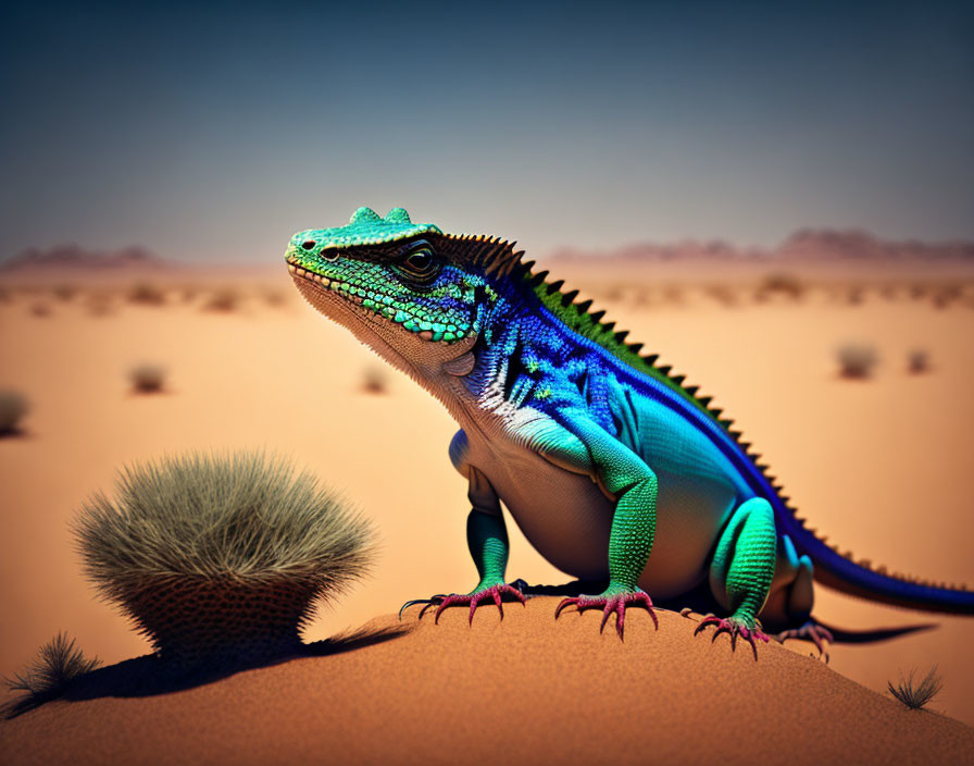
<instances>
[{"instance_id":1,"label":"smooth orange sand mound under the lizard's feet","mask_svg":"<svg viewBox=\"0 0 974 766\"><path fill-rule=\"evenodd\" d=\"M184 691L102 684L100 696L2 722L0 762L795 765L974 757L974 729L907 711L782 646L761 645L756 662L747 645L732 654L726 635L713 644L695 639L692 621L662 610L659 630L633 610L622 643L614 630L599 635L591 611L554 622L555 604L505 604L503 622L485 608L472 628L464 609L450 609L434 626L428 614L417 622L413 608L402 623L389 616L365 626L372 640L338 641L321 656Z\"/></svg>"}]
</instances>

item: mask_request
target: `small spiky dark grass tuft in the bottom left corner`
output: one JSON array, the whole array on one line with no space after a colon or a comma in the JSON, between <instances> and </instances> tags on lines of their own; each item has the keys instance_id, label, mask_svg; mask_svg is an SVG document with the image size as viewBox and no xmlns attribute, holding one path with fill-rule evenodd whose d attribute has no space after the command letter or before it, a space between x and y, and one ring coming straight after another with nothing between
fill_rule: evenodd
<instances>
[{"instance_id":1,"label":"small spiky dark grass tuft in the bottom left corner","mask_svg":"<svg viewBox=\"0 0 974 766\"><path fill-rule=\"evenodd\" d=\"M98 657L88 659L74 645L74 639L66 633L58 633L40 647L27 668L3 682L16 696L4 706L9 717L26 713L64 693L68 684L78 676L90 672L101 665Z\"/></svg>"}]
</instances>

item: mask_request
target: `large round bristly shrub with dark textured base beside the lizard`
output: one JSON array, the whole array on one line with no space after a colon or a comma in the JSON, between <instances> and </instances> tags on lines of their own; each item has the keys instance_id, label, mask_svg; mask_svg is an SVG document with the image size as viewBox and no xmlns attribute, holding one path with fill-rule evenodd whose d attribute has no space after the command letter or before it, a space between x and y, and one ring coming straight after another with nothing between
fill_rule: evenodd
<instances>
[{"instance_id":1,"label":"large round bristly shrub with dark textured base beside the lizard","mask_svg":"<svg viewBox=\"0 0 974 766\"><path fill-rule=\"evenodd\" d=\"M74 524L89 579L176 666L295 651L317 604L363 577L372 526L262 454L126 468Z\"/></svg>"}]
</instances>

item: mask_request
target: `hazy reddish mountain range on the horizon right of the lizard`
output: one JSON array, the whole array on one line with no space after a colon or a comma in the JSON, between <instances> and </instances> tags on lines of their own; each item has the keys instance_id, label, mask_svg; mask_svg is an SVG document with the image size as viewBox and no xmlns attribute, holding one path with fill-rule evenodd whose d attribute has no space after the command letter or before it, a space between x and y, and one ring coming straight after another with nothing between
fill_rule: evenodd
<instances>
[{"instance_id":1,"label":"hazy reddish mountain range on the horizon right of the lizard","mask_svg":"<svg viewBox=\"0 0 974 766\"><path fill-rule=\"evenodd\" d=\"M552 255L560 260L591 257L627 261L660 260L769 260L789 261L965 261L974 263L974 242L925 243L881 239L858 230L801 228L781 245L764 249L737 247L721 239L685 240L675 244L640 243L614 250L562 248Z\"/></svg>"}]
</instances>

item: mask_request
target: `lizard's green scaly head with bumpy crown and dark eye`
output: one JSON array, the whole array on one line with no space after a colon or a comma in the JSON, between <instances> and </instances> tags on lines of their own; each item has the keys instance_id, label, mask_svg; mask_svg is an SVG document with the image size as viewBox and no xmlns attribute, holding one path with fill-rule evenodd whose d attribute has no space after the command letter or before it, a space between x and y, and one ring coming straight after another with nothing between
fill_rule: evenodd
<instances>
[{"instance_id":1,"label":"lizard's green scaly head with bumpy crown and dark eye","mask_svg":"<svg viewBox=\"0 0 974 766\"><path fill-rule=\"evenodd\" d=\"M360 208L348 225L298 232L285 258L312 306L416 371L458 359L476 342L498 297L476 257L487 244L500 246L413 223L402 208L385 218Z\"/></svg>"}]
</instances>

